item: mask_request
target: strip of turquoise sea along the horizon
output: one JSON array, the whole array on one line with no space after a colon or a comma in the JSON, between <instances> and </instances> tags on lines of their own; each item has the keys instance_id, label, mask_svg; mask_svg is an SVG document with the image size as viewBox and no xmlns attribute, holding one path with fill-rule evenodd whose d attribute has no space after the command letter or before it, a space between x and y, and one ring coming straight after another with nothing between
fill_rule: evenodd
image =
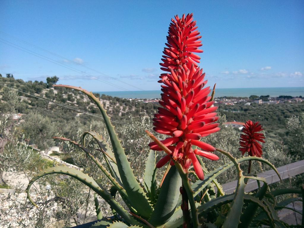
<instances>
[{"instance_id":1,"label":"strip of turquoise sea along the horizon","mask_svg":"<svg viewBox=\"0 0 304 228\"><path fill-rule=\"evenodd\" d=\"M147 91L112 91L112 92L95 92L100 95L105 94L112 97L119 98L138 98L150 99L160 98L161 90L147 90ZM285 96L303 96L304 87L285 87L285 88L234 88L234 89L216 89L215 97L233 96L233 97L249 97L250 95L269 95L270 97Z\"/></svg>"}]
</instances>

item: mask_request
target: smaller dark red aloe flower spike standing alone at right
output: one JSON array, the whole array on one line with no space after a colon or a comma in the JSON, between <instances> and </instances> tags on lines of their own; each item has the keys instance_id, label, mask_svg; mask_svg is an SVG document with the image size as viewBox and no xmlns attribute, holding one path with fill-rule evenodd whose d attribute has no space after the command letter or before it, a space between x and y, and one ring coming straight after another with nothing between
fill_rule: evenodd
<instances>
[{"instance_id":1,"label":"smaller dark red aloe flower spike standing alone at right","mask_svg":"<svg viewBox=\"0 0 304 228\"><path fill-rule=\"evenodd\" d=\"M263 140L264 134L258 133L263 130L262 126L259 122L253 123L251 120L247 120L240 136L240 151L242 151L242 155L248 152L249 156L262 156L262 145L259 142L265 143ZM258 142L259 141L259 142Z\"/></svg>"}]
</instances>

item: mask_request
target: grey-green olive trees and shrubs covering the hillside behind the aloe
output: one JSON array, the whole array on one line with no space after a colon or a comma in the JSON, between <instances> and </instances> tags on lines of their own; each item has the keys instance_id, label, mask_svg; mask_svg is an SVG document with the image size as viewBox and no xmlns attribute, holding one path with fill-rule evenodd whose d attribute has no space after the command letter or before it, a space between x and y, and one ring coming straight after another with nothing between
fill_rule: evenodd
<instances>
[{"instance_id":1,"label":"grey-green olive trees and shrubs covering the hillside behind the aloe","mask_svg":"<svg viewBox=\"0 0 304 228\"><path fill-rule=\"evenodd\" d=\"M9 143L3 145L2 150L0 148L1 169L5 171L14 169L29 174L54 166L54 162L42 158L28 144L34 144L40 150L47 150L50 146L58 145L64 151L61 157L63 160L78 166L84 173L97 179L98 183L108 184L103 182L105 181L104 174L96 168L83 151L78 147L71 146L71 144L52 139L52 136L64 136L81 142L81 132L90 129L101 133L109 141L105 134L105 125L92 101L76 91L51 88L51 85L56 82L56 78L50 78L47 83L42 81L24 82L20 79L15 80L13 77L0 78L0 113L6 114L6 117L0 116L2 120L0 137L9 139ZM38 96L38 98L33 95ZM143 178L145 161L149 152L147 144L150 142L150 138L144 133L144 130L152 130L151 119L159 104L130 101L106 95L100 95L100 99L116 125L119 138L122 140L123 147L126 148L126 154L130 158L135 176ZM52 101L58 103L52 103ZM22 121L14 122L11 115L17 112L25 114L25 116L22 116ZM225 123L234 120L244 122L247 119L252 119L260 121L265 129L267 139L264 144L264 157L275 166L303 159L304 104L219 105L218 112L220 115L218 122L222 130L207 136L205 139L207 143L226 151L233 151L234 157L241 157L238 153L240 131L232 126L226 126ZM94 140L87 140L86 145L94 157L102 157L102 153L96 150L98 146ZM218 155L221 157L218 162L206 164L209 170L228 161L225 156ZM244 169L246 169L246 165L244 165ZM261 172L268 168L255 163L253 169L256 172ZM158 175L162 174L163 170L159 171ZM232 180L232 176L236 176L234 171L229 171L225 175L221 175L218 180L221 183L228 182ZM20 227L46 227L47 224L54 223L54 221L59 221L57 223L59 227L69 227L72 224L78 225L88 221L88 216L92 212L88 209L92 206L90 204L92 192L81 188L81 184L70 180L70 178L64 181L60 176L54 176L44 181L44 183L39 184L44 190L40 190L40 197L35 199L41 204L40 209L35 211L29 203L12 206L24 218L30 210L35 211L35 226L26 223L26 219L22 220L22 216L20 216L16 218L20 221ZM294 185L300 183L299 179L296 179ZM46 185L51 186L52 194L49 190L45 190ZM75 188L81 189L81 191L75 192ZM2 200L17 200L18 191L10 197ZM53 210L54 206L57 208L54 211L55 216L46 212L50 209ZM27 208L26 213L21 213L22 208ZM83 212L86 213L85 216L83 216ZM109 215L109 212L106 212L105 215ZM7 221L3 219L9 219L9 216L5 214L1 218L2 221ZM2 224L0 223L0 225Z\"/></svg>"}]
</instances>

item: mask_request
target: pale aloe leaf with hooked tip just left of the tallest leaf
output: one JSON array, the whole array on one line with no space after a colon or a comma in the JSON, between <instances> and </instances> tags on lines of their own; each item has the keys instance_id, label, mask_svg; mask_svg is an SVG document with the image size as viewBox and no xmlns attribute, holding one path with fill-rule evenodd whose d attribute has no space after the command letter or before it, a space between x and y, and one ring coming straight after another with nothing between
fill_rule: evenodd
<instances>
[{"instance_id":1,"label":"pale aloe leaf with hooked tip just left of the tallest leaf","mask_svg":"<svg viewBox=\"0 0 304 228\"><path fill-rule=\"evenodd\" d=\"M115 178L115 180L121 186L123 186L123 183L120 180L120 175L119 175L119 171L118 171L118 167L117 167L117 164L116 164L114 153L110 149L108 143L98 133L96 133L94 131L87 131L82 135L82 139L83 139L84 144L85 144L85 136L88 135L88 134L91 135L95 139L96 143L100 147L100 150L103 151L103 155L104 155L105 161L107 162L107 165L108 165L108 168L109 168L109 171L110 171L111 175Z\"/></svg>"}]
</instances>

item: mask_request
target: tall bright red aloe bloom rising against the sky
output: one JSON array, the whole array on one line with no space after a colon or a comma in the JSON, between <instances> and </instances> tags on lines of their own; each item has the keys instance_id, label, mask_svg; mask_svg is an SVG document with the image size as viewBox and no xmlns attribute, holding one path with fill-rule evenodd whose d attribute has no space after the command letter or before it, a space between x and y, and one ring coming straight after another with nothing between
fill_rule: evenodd
<instances>
[{"instance_id":1,"label":"tall bright red aloe bloom rising against the sky","mask_svg":"<svg viewBox=\"0 0 304 228\"><path fill-rule=\"evenodd\" d=\"M203 88L207 81L205 73L197 63L200 57L195 53L202 53L199 32L193 14L175 16L171 20L167 36L164 55L160 63L165 73L160 75L162 108L155 114L154 130L171 137L162 140L163 145L171 150L158 163L161 167L171 160L178 161L187 172L191 164L198 177L202 180L204 174L195 154L211 160L218 157L206 151L214 151L211 145L199 141L201 137L219 131L218 120L210 101L210 87ZM192 150L192 145L202 150ZM152 150L161 150L157 143L150 143Z\"/></svg>"}]
</instances>

